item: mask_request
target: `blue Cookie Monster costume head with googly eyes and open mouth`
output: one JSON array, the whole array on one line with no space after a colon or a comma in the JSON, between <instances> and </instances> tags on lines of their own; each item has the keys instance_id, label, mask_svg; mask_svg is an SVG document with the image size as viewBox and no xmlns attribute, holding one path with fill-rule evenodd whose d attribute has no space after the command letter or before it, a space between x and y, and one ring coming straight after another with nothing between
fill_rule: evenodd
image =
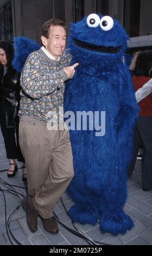
<instances>
[{"instance_id":1,"label":"blue Cookie Monster costume head with googly eyes and open mouth","mask_svg":"<svg viewBox=\"0 0 152 256\"><path fill-rule=\"evenodd\" d=\"M90 14L83 20L72 23L68 47L71 53L86 58L113 59L123 55L127 40L123 27L115 19L102 14Z\"/></svg>"}]
</instances>

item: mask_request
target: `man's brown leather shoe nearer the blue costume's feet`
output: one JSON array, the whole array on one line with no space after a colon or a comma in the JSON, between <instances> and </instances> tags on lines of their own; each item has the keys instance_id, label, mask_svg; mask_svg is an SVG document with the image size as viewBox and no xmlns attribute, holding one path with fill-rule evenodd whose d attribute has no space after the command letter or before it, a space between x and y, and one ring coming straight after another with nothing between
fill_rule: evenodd
<instances>
[{"instance_id":1,"label":"man's brown leather shoe nearer the blue costume's feet","mask_svg":"<svg viewBox=\"0 0 152 256\"><path fill-rule=\"evenodd\" d=\"M51 218L43 218L43 227L45 230L47 230L51 234L58 234L59 233L59 228L58 224L55 221L55 217L52 216Z\"/></svg>"}]
</instances>

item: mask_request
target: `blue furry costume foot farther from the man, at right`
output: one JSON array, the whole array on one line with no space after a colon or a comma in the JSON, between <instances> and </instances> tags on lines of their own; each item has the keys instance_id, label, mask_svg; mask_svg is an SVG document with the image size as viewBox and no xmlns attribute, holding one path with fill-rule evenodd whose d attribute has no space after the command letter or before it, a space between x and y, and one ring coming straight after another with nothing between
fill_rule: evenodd
<instances>
[{"instance_id":1,"label":"blue furry costume foot farther from the man, at right","mask_svg":"<svg viewBox=\"0 0 152 256\"><path fill-rule=\"evenodd\" d=\"M104 212L100 218L100 230L112 235L125 234L134 227L131 218L123 210Z\"/></svg>"}]
</instances>

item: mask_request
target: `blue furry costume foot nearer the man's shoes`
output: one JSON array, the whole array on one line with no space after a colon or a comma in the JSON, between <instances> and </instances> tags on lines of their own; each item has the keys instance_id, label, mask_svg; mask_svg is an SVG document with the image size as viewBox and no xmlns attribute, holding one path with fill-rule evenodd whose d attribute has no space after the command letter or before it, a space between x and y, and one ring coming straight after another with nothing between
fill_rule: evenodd
<instances>
[{"instance_id":1,"label":"blue furry costume foot nearer the man's shoes","mask_svg":"<svg viewBox=\"0 0 152 256\"><path fill-rule=\"evenodd\" d=\"M98 221L99 212L95 206L82 206L74 204L68 211L73 222L95 225Z\"/></svg>"}]
</instances>

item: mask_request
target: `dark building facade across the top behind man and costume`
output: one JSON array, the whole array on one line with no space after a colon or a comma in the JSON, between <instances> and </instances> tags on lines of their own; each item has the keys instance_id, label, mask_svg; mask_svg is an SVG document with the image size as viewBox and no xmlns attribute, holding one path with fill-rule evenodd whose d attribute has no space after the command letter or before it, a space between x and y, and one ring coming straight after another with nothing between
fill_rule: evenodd
<instances>
[{"instance_id":1,"label":"dark building facade across the top behind man and costume","mask_svg":"<svg viewBox=\"0 0 152 256\"><path fill-rule=\"evenodd\" d=\"M130 52L152 48L151 0L0 0L0 40L22 35L39 41L43 22L70 22L102 13L116 18L130 35Z\"/></svg>"}]
</instances>

